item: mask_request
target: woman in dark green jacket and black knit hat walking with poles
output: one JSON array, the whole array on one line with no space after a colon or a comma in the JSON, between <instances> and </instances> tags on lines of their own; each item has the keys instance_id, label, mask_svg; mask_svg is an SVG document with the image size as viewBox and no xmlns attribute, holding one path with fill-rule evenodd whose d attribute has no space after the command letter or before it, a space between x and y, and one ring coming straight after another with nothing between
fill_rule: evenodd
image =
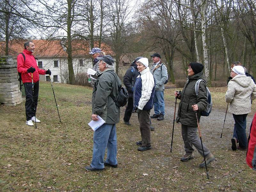
<instances>
[{"instance_id":1,"label":"woman in dark green jacket and black knit hat walking with poles","mask_svg":"<svg viewBox=\"0 0 256 192\"><path fill-rule=\"evenodd\" d=\"M198 116L198 121L200 121L201 111L203 111L207 105L207 92L206 92L206 80L203 74L204 66L201 63L192 62L188 66L188 81L185 84L181 94L178 95L175 92L175 97L180 99L178 114L176 122L181 124L181 134L184 141L185 155L180 159L180 161L188 161L193 159L193 147L194 146L198 152L203 156L202 145L200 139L197 137L197 121L196 113ZM195 84L198 79L203 79L199 84L198 95L196 96ZM206 164L211 163L215 160L215 157L209 151L208 148L204 147L204 155ZM200 167L205 167L204 160Z\"/></svg>"}]
</instances>

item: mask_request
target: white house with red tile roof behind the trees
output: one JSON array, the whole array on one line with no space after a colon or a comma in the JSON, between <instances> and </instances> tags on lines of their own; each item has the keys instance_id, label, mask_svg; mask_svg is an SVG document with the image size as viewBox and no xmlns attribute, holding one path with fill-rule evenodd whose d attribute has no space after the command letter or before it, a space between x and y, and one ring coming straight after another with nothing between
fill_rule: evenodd
<instances>
[{"instance_id":1,"label":"white house with red tile roof behind the trees","mask_svg":"<svg viewBox=\"0 0 256 192\"><path fill-rule=\"evenodd\" d=\"M27 40L12 40L9 42L9 55L16 60L18 54L24 49ZM56 83L68 82L68 54L66 52L66 41L62 40L32 40L35 44L33 55L37 59L39 68L50 69L51 78ZM98 42L95 42L95 47ZM114 55L107 44L101 43L101 50L106 54ZM4 55L5 42L0 42L0 55ZM72 41L72 59L75 76L79 73L86 73L92 68L92 58L89 54L90 43L84 40ZM50 81L49 75L40 75L40 81Z\"/></svg>"}]
</instances>

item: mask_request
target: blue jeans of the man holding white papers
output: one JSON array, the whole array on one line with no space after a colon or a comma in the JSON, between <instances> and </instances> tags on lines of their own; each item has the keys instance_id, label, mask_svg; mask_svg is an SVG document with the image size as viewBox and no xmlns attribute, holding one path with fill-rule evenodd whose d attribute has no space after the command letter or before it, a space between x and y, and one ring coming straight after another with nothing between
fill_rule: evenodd
<instances>
[{"instance_id":1,"label":"blue jeans of the man holding white papers","mask_svg":"<svg viewBox=\"0 0 256 192\"><path fill-rule=\"evenodd\" d=\"M94 132L91 163L93 168L104 168L104 156L106 148L108 148L106 163L116 165L116 124L103 124Z\"/></svg>"}]
</instances>

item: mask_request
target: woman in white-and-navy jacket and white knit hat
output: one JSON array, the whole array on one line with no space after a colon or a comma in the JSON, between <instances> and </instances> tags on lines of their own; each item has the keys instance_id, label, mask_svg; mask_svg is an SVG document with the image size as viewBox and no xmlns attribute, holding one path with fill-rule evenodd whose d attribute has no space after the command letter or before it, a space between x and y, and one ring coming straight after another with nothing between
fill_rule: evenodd
<instances>
[{"instance_id":1,"label":"woman in white-and-navy jacket and white knit hat","mask_svg":"<svg viewBox=\"0 0 256 192\"><path fill-rule=\"evenodd\" d=\"M139 151L146 151L151 149L149 114L153 108L155 81L149 71L147 58L139 59L136 64L140 75L134 84L133 107L138 112L141 134L141 141L137 141L136 144L141 145Z\"/></svg>"}]
</instances>

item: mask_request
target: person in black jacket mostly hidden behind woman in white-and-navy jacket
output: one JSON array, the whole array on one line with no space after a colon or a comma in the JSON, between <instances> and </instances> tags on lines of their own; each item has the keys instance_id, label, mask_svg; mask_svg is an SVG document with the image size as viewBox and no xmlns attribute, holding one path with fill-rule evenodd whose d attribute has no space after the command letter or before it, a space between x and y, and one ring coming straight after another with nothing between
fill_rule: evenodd
<instances>
[{"instance_id":1,"label":"person in black jacket mostly hidden behind woman in white-and-navy jacket","mask_svg":"<svg viewBox=\"0 0 256 192\"><path fill-rule=\"evenodd\" d=\"M127 125L131 125L130 118L132 116L133 109L133 90L136 78L139 75L136 62L140 58L142 57L137 57L134 61L132 61L131 67L127 69L123 79L124 85L128 91L128 103L124 112L124 123Z\"/></svg>"}]
</instances>

